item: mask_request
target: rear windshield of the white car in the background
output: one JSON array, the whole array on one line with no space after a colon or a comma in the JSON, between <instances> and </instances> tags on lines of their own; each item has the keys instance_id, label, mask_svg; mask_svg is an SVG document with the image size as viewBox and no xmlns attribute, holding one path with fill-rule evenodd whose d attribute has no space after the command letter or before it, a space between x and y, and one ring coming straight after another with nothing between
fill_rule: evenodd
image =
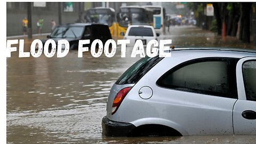
<instances>
[{"instance_id":1,"label":"rear windshield of the white car in the background","mask_svg":"<svg viewBox=\"0 0 256 144\"><path fill-rule=\"evenodd\" d=\"M129 36L154 36L151 28L132 27L129 31Z\"/></svg>"}]
</instances>

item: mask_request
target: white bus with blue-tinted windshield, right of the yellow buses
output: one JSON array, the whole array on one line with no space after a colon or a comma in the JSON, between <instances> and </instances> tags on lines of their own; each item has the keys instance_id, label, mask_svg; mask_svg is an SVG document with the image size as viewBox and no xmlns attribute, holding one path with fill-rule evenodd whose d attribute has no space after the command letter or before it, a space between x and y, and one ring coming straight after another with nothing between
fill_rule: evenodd
<instances>
[{"instance_id":1,"label":"white bus with blue-tinted windshield, right of the yellow buses","mask_svg":"<svg viewBox=\"0 0 256 144\"><path fill-rule=\"evenodd\" d=\"M145 5L153 10L154 23L153 26L156 30L156 33L164 34L165 33L165 9L159 5Z\"/></svg>"}]
</instances>

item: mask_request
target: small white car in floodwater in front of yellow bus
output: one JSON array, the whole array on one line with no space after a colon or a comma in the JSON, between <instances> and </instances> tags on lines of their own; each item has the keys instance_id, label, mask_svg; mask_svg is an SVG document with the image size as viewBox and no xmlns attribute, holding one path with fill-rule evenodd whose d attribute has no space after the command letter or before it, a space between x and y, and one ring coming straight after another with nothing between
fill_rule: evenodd
<instances>
[{"instance_id":1,"label":"small white car in floodwater in front of yellow bus","mask_svg":"<svg viewBox=\"0 0 256 144\"><path fill-rule=\"evenodd\" d=\"M150 40L157 40L157 36L159 34L156 34L153 26L131 25L127 28L124 39L130 39L130 45L134 45L137 39L141 39L143 45L147 45Z\"/></svg>"}]
</instances>

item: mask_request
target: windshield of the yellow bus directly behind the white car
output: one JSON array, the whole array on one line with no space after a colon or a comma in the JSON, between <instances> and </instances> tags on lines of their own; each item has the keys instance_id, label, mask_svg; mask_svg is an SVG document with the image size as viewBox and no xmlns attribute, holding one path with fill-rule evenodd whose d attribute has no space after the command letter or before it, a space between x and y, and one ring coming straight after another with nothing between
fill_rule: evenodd
<instances>
[{"instance_id":1,"label":"windshield of the yellow bus directly behind the white car","mask_svg":"<svg viewBox=\"0 0 256 144\"><path fill-rule=\"evenodd\" d=\"M145 17L145 10L141 8L121 8L121 12L119 13L118 22L121 27L128 27L131 24L140 24L146 23Z\"/></svg>"}]
</instances>

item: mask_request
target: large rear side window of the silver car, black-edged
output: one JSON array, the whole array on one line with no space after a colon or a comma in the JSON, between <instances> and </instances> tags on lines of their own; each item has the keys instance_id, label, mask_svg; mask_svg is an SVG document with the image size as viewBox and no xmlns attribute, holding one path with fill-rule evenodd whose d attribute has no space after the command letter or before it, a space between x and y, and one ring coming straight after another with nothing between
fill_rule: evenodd
<instances>
[{"instance_id":1,"label":"large rear side window of the silver car, black-edged","mask_svg":"<svg viewBox=\"0 0 256 144\"><path fill-rule=\"evenodd\" d=\"M205 58L181 63L157 80L167 89L237 98L236 63L231 58Z\"/></svg>"}]
</instances>

